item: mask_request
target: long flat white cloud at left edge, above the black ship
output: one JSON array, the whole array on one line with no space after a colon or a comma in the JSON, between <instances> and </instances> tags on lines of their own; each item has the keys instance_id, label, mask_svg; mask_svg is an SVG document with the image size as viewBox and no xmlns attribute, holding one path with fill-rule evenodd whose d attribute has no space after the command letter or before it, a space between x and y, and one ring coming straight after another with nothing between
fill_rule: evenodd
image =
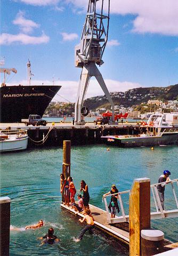
<instances>
[{"instance_id":1,"label":"long flat white cloud at left edge, above the black ship","mask_svg":"<svg viewBox=\"0 0 178 256\"><path fill-rule=\"evenodd\" d=\"M12 43L21 43L21 44L43 44L50 41L50 37L46 36L44 33L42 36L29 36L26 34L6 34L3 33L0 35L0 45L10 45Z\"/></svg>"}]
</instances>

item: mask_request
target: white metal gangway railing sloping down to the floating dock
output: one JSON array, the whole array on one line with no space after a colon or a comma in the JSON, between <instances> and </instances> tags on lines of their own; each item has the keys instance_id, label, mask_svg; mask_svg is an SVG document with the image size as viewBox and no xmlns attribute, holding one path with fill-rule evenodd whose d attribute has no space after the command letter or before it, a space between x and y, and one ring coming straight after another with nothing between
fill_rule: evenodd
<instances>
[{"instance_id":1,"label":"white metal gangway railing sloping down to the floating dock","mask_svg":"<svg viewBox=\"0 0 178 256\"><path fill-rule=\"evenodd\" d=\"M177 185L176 187L178 188L178 179L174 179L168 182L161 182L161 183L156 183L151 185L151 191L152 191L152 205L151 205L151 212L150 212L150 217L151 220L153 219L162 219L162 218L175 218L178 217L178 201L177 201L177 196L176 196L176 192L175 192L175 188L174 188L174 183ZM176 209L173 210L163 210L163 207L161 205L160 202L160 198L159 198L159 194L158 194L158 189L157 186L164 184L166 187L171 185L171 190L173 192L173 197L171 198L171 193L166 193L167 197L169 197L169 201L171 200L172 202L174 201ZM103 196L103 201L106 207L106 212L107 212L107 221L108 223L121 223L121 222L128 222L129 221L129 215L126 214L126 211L128 212L128 204L126 205L126 210L124 210L124 204L123 204L123 200L122 197L123 196L128 196L129 197L130 194L130 190L126 190L126 191L122 191L116 194L112 194L112 195L118 195L118 201L119 201L119 205L120 205L120 210L122 215L121 216L117 216L116 213L116 217L115 218L111 218L111 214L109 213L109 209L108 209L108 202L107 202L107 197L111 197L111 195L107 195L107 196ZM174 200L173 200L174 199ZM127 203L126 200L124 200L125 203ZM153 211L153 209L156 208L156 211Z\"/></svg>"}]
</instances>

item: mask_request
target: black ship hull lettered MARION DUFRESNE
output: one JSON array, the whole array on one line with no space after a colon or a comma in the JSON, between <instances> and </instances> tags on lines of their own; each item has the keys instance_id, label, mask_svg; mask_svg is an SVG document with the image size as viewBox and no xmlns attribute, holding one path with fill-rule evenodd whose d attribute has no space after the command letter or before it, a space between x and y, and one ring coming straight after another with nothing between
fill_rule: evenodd
<instances>
[{"instance_id":1,"label":"black ship hull lettered MARION DUFRESNE","mask_svg":"<svg viewBox=\"0 0 178 256\"><path fill-rule=\"evenodd\" d=\"M58 85L2 86L1 123L21 122L29 115L43 116L47 106L60 90Z\"/></svg>"}]
</instances>

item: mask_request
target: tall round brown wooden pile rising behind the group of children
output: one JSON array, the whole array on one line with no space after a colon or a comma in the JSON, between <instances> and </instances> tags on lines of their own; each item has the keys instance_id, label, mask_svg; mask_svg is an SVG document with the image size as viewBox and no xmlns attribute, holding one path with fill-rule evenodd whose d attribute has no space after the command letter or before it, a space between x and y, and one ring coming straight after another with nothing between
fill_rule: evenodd
<instances>
[{"instance_id":1,"label":"tall round brown wooden pile rising behind the group of children","mask_svg":"<svg viewBox=\"0 0 178 256\"><path fill-rule=\"evenodd\" d=\"M71 150L71 141L63 141L63 163L62 163L62 173L67 179L70 176L70 150ZM64 202L64 196L62 193L62 202Z\"/></svg>"}]
</instances>

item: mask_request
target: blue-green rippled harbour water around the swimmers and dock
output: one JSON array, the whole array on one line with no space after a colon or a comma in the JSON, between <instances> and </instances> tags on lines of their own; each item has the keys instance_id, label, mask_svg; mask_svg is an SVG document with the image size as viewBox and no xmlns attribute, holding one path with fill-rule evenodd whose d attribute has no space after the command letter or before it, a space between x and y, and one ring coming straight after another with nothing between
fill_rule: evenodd
<instances>
[{"instance_id":1,"label":"blue-green rippled harbour water around the swimmers and dock","mask_svg":"<svg viewBox=\"0 0 178 256\"><path fill-rule=\"evenodd\" d=\"M12 200L11 225L25 227L39 219L45 221L38 230L11 231L10 255L128 255L127 247L98 230L79 243L74 241L82 224L60 207L62 154L62 148L48 148L1 155L1 196ZM90 189L90 203L104 209L102 195L113 183L120 191L130 189L135 178L149 177L151 183L157 183L165 169L171 171L172 179L177 178L177 156L177 146L154 150L110 147L110 151L105 145L72 147L71 176L77 190L84 179ZM174 207L170 195L166 188L165 204ZM177 224L177 218L152 222L172 241L178 241ZM51 226L60 244L40 246L37 237Z\"/></svg>"}]
</instances>

